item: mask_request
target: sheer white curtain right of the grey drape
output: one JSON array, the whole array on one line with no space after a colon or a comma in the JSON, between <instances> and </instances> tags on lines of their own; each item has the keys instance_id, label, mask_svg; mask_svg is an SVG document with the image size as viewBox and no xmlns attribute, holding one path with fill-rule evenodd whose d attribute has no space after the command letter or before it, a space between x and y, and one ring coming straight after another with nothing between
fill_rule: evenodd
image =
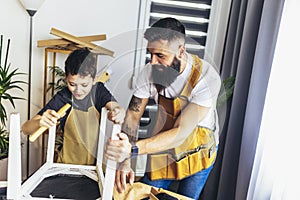
<instances>
[{"instance_id":1,"label":"sheer white curtain right of the grey drape","mask_svg":"<svg viewBox=\"0 0 300 200\"><path fill-rule=\"evenodd\" d=\"M294 200L300 189L300 2L286 0L247 199Z\"/></svg>"}]
</instances>

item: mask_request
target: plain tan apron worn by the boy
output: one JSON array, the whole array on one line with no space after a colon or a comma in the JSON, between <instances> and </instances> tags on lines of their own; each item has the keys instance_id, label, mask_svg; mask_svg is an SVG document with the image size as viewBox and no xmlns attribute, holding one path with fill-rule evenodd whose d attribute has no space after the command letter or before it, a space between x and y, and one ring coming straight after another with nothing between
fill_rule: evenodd
<instances>
[{"instance_id":1,"label":"plain tan apron worn by the boy","mask_svg":"<svg viewBox=\"0 0 300 200\"><path fill-rule=\"evenodd\" d=\"M72 107L65 124L63 148L57 162L94 165L98 144L100 114L92 106L88 111Z\"/></svg>"}]
</instances>

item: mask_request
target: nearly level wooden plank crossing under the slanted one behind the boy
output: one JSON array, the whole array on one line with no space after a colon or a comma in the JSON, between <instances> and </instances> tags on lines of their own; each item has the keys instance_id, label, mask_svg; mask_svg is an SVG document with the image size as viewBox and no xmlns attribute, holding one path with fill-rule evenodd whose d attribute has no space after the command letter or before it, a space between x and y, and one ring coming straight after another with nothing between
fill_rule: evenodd
<instances>
[{"instance_id":1,"label":"nearly level wooden plank crossing under the slanted one behind the boy","mask_svg":"<svg viewBox=\"0 0 300 200\"><path fill-rule=\"evenodd\" d=\"M106 34L81 36L78 38L85 42L101 41L101 40L106 40ZM74 44L74 43L66 39L48 39L48 40L37 41L37 47L57 46L57 45L59 46L59 45L68 45L68 44Z\"/></svg>"}]
</instances>

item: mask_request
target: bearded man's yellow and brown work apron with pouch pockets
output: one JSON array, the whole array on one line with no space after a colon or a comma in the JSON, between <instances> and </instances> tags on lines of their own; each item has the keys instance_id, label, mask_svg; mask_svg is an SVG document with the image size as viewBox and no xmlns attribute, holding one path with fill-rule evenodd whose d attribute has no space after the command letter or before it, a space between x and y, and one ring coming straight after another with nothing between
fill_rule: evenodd
<instances>
[{"instance_id":1,"label":"bearded man's yellow and brown work apron with pouch pockets","mask_svg":"<svg viewBox=\"0 0 300 200\"><path fill-rule=\"evenodd\" d=\"M181 111L189 103L188 97L197 84L201 71L202 62L193 55L192 72L181 94L175 99L158 95L159 109L153 134L173 128ZM150 179L180 180L210 167L216 158L215 146L213 132L197 126L180 146L149 156Z\"/></svg>"}]
</instances>

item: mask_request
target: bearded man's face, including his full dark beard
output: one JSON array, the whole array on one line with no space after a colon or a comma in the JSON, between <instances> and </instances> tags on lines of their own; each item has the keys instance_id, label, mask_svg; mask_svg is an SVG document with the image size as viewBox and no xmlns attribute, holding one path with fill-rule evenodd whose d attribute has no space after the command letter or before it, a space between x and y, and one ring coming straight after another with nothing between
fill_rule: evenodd
<instances>
[{"instance_id":1,"label":"bearded man's face, including his full dark beard","mask_svg":"<svg viewBox=\"0 0 300 200\"><path fill-rule=\"evenodd\" d=\"M168 87L179 75L181 62L176 57L176 47L168 41L160 40L148 43L151 54L152 79L160 87Z\"/></svg>"}]
</instances>

